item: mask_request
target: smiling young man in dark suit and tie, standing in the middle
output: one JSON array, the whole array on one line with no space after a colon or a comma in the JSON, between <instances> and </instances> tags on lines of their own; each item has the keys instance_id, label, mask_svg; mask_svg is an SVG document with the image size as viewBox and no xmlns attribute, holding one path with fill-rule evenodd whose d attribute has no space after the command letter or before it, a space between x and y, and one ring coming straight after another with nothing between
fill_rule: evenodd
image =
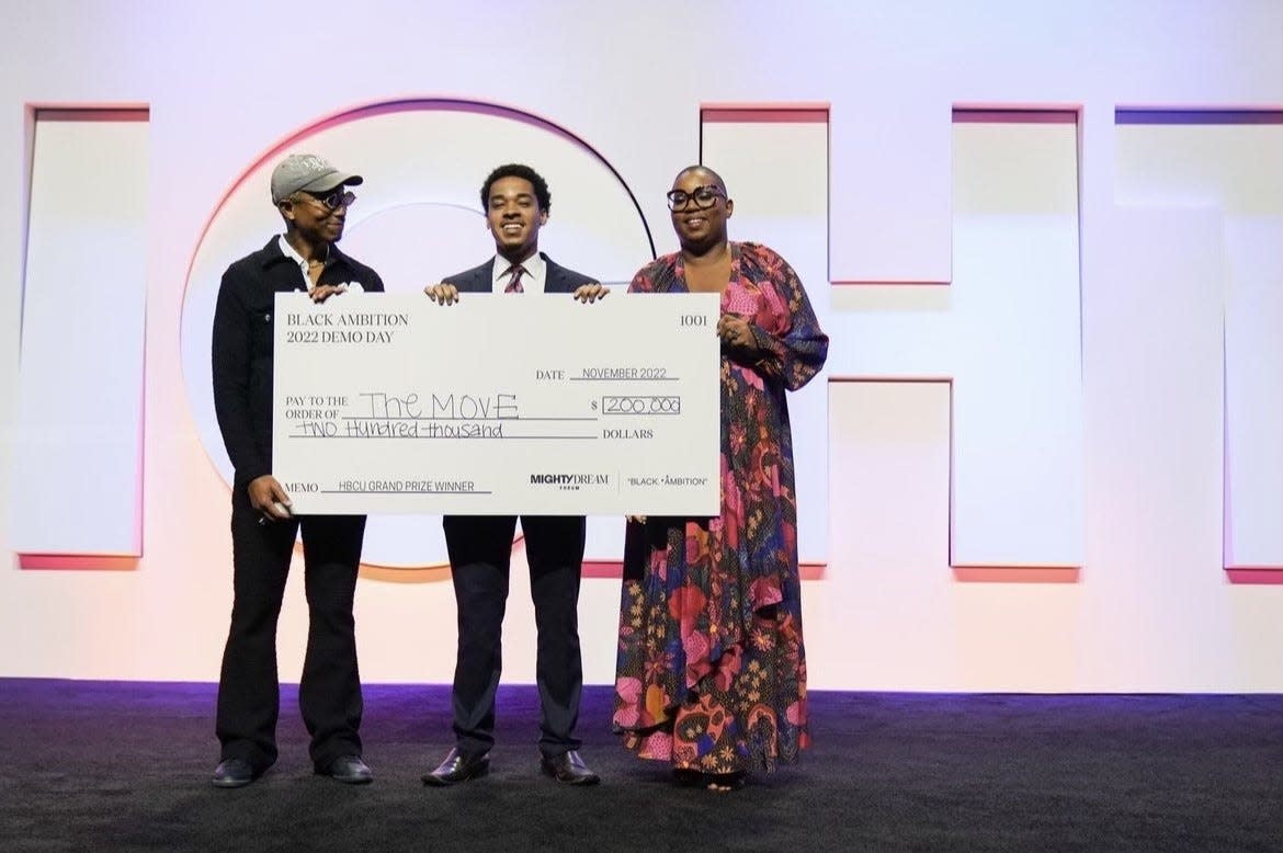
<instances>
[{"instance_id":1,"label":"smiling young man in dark suit and tie, standing in the middle","mask_svg":"<svg viewBox=\"0 0 1283 853\"><path fill-rule=\"evenodd\" d=\"M529 165L497 168L481 187L495 257L425 287L425 292L440 305L454 304L461 292L566 294L584 303L606 296L607 287L539 251L539 228L548 222L550 203L548 183ZM514 516L444 519L459 618L453 689L455 747L436 770L423 776L427 785L454 785L485 776L490 770L494 697L502 666L500 631L516 525ZM535 680L540 700L540 768L559 782L595 785L599 779L580 758L580 740L575 736L584 684L579 652L584 517L522 516L521 530L539 634Z\"/></svg>"}]
</instances>

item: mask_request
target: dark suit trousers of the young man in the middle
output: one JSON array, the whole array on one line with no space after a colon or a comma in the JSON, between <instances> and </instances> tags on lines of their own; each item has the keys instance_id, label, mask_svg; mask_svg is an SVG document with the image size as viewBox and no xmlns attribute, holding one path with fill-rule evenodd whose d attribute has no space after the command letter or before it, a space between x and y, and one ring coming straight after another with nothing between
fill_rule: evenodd
<instances>
[{"instance_id":1,"label":"dark suit trousers of the young man in the middle","mask_svg":"<svg viewBox=\"0 0 1283 853\"><path fill-rule=\"evenodd\" d=\"M446 516L445 546L459 613L454 667L454 735L459 749L494 745L494 694L503 668L500 634L508 600L514 516ZM579 749L575 723L584 689L579 653L579 579L584 563L582 516L522 516L530 596L539 632L539 750L548 757Z\"/></svg>"}]
</instances>

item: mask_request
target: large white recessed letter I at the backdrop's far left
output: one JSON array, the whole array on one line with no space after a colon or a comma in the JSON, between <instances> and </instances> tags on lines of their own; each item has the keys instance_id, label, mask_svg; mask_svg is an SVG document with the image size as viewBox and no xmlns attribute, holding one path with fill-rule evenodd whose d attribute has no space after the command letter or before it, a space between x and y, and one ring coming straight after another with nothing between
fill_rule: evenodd
<instances>
[{"instance_id":1,"label":"large white recessed letter I at the backdrop's far left","mask_svg":"<svg viewBox=\"0 0 1283 853\"><path fill-rule=\"evenodd\" d=\"M13 548L27 568L142 553L148 110L35 110Z\"/></svg>"}]
</instances>

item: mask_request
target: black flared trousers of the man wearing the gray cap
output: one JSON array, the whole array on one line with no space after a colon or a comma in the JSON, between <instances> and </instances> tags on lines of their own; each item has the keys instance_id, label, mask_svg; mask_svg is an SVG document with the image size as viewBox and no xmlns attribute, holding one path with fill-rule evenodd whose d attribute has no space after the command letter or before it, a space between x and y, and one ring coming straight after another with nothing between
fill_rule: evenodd
<instances>
[{"instance_id":1,"label":"black flared trousers of the man wearing the gray cap","mask_svg":"<svg viewBox=\"0 0 1283 853\"><path fill-rule=\"evenodd\" d=\"M259 523L244 486L232 489L232 623L218 682L216 731L223 758L244 758L257 771L276 761L281 691L276 623L285 579L303 528L303 582L308 598L308 649L299 708L312 735L313 763L361 754L362 699L352 603L361 563L364 516L304 516Z\"/></svg>"}]
</instances>

